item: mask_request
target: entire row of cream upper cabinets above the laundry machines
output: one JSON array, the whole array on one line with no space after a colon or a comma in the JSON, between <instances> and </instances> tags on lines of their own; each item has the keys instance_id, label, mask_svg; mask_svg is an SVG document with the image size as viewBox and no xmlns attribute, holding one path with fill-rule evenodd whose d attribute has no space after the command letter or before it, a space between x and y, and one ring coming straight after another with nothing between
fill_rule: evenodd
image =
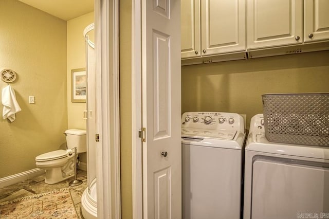
<instances>
[{"instance_id":1,"label":"entire row of cream upper cabinets above the laundry machines","mask_svg":"<svg viewBox=\"0 0 329 219\"><path fill-rule=\"evenodd\" d=\"M327 49L329 0L181 0L182 65Z\"/></svg>"}]
</instances>

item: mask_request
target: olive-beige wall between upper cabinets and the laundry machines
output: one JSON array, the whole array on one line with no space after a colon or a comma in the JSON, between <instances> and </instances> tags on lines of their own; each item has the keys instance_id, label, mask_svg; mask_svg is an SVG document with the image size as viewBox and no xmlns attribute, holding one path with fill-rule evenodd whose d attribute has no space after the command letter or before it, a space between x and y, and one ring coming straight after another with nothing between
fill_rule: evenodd
<instances>
[{"instance_id":1,"label":"olive-beige wall between upper cabinets and the laundry machines","mask_svg":"<svg viewBox=\"0 0 329 219\"><path fill-rule=\"evenodd\" d=\"M329 92L329 51L183 66L182 113L262 113L265 93Z\"/></svg>"}]
</instances>

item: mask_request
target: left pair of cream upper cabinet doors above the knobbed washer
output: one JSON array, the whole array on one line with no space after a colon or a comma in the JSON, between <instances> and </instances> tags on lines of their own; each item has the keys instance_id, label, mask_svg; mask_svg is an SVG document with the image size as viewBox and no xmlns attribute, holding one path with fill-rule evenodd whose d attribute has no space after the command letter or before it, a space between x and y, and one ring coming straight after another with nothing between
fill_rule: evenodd
<instances>
[{"instance_id":1,"label":"left pair of cream upper cabinet doors above the knobbed washer","mask_svg":"<svg viewBox=\"0 0 329 219\"><path fill-rule=\"evenodd\" d=\"M244 51L245 21L244 0L181 0L181 58Z\"/></svg>"}]
</instances>

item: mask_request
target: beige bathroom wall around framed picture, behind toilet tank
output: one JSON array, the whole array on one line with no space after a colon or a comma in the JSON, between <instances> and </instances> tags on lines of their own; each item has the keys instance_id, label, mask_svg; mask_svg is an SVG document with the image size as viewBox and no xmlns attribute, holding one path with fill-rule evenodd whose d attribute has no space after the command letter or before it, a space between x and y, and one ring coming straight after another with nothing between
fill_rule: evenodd
<instances>
[{"instance_id":1,"label":"beige bathroom wall around framed picture, behind toilet tank","mask_svg":"<svg viewBox=\"0 0 329 219\"><path fill-rule=\"evenodd\" d=\"M71 102L71 70L86 67L86 42L83 30L94 23L94 12L67 21L67 127L68 129L86 129L83 111L86 103ZM90 31L90 40L94 40L94 31ZM81 162L86 163L86 153L79 154Z\"/></svg>"}]
</instances>

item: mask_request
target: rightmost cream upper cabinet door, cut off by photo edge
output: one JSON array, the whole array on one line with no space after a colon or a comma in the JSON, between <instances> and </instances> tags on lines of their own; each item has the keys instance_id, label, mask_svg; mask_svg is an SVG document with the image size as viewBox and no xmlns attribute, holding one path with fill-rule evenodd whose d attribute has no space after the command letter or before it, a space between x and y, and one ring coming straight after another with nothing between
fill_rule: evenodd
<instances>
[{"instance_id":1,"label":"rightmost cream upper cabinet door, cut off by photo edge","mask_svg":"<svg viewBox=\"0 0 329 219\"><path fill-rule=\"evenodd\" d=\"M304 41L329 39L329 1L304 0Z\"/></svg>"}]
</instances>

